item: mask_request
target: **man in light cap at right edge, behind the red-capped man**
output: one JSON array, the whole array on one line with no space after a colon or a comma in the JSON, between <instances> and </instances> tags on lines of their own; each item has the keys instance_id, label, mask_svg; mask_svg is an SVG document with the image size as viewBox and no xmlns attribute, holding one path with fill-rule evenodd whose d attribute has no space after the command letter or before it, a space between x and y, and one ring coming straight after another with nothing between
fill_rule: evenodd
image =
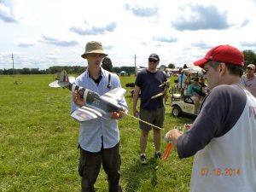
<instances>
[{"instance_id":1,"label":"man in light cap at right edge, behind the red-capped man","mask_svg":"<svg viewBox=\"0 0 256 192\"><path fill-rule=\"evenodd\" d=\"M247 66L247 73L241 77L241 84L243 84L247 90L249 90L254 97L256 97L256 75L255 66L249 64Z\"/></svg>"}]
</instances>

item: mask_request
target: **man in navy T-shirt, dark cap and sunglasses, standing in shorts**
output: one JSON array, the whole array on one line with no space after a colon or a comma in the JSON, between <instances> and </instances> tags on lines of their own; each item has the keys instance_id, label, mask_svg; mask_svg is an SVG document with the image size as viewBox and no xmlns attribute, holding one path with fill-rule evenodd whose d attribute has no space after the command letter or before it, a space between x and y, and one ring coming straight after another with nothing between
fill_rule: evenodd
<instances>
[{"instance_id":1,"label":"man in navy T-shirt, dark cap and sunglasses, standing in shorts","mask_svg":"<svg viewBox=\"0 0 256 192\"><path fill-rule=\"evenodd\" d=\"M164 96L158 96L151 99L151 96L159 94L164 90L159 87L160 84L166 82L166 74L157 70L160 58L159 55L151 54L148 57L148 68L142 70L137 74L135 81L135 89L133 93L133 115L137 116L139 113L140 119L147 121L150 124L163 127L165 119L165 108L163 103ZM141 91L140 111L137 110L137 101L139 92ZM151 125L139 122L140 135L140 161L142 165L146 164L146 148L148 143L148 132L152 129ZM154 157L160 158L160 129L154 128Z\"/></svg>"}]
</instances>

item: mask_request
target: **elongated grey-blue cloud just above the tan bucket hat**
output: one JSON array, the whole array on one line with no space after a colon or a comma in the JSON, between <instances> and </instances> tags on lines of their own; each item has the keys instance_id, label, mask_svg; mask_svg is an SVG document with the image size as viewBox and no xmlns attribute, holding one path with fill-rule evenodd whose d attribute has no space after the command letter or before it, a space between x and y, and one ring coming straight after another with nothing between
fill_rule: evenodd
<instances>
[{"instance_id":1,"label":"elongated grey-blue cloud just above the tan bucket hat","mask_svg":"<svg viewBox=\"0 0 256 192\"><path fill-rule=\"evenodd\" d=\"M91 26L89 29L83 29L80 26L71 26L69 30L71 32L76 32L79 35L98 35L106 32L113 32L116 26L115 22L111 22L107 26Z\"/></svg>"}]
</instances>

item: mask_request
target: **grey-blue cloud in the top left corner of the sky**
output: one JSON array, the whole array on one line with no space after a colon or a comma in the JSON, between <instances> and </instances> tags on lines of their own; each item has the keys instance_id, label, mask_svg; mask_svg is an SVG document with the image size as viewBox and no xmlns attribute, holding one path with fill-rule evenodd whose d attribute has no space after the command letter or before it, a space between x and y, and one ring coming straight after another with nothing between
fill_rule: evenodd
<instances>
[{"instance_id":1,"label":"grey-blue cloud in the top left corner of the sky","mask_svg":"<svg viewBox=\"0 0 256 192\"><path fill-rule=\"evenodd\" d=\"M11 0L0 1L0 20L7 23L17 23L14 12L14 3Z\"/></svg>"}]
</instances>

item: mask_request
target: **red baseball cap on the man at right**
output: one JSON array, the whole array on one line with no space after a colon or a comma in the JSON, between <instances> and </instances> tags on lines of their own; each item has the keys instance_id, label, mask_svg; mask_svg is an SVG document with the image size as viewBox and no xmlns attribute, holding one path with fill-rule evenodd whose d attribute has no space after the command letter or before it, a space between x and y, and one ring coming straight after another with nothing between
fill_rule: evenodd
<instances>
[{"instance_id":1,"label":"red baseball cap on the man at right","mask_svg":"<svg viewBox=\"0 0 256 192\"><path fill-rule=\"evenodd\" d=\"M201 60L195 61L194 65L204 67L207 61L223 61L243 67L244 55L239 49L226 45L218 45L207 52Z\"/></svg>"}]
</instances>

